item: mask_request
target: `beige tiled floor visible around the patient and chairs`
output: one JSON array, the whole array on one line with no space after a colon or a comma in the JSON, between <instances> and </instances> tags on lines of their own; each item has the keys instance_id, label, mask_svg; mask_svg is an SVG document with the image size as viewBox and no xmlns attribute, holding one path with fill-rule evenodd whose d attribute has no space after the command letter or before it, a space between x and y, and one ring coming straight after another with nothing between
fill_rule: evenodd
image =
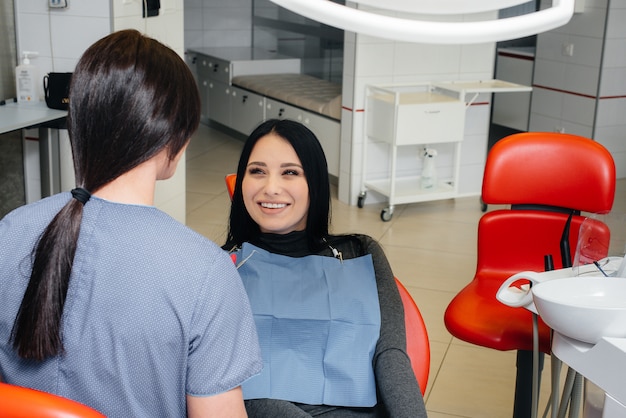
<instances>
[{"instance_id":1,"label":"beige tiled floor visible around the patient and chairs","mask_svg":"<svg viewBox=\"0 0 626 418\"><path fill-rule=\"evenodd\" d=\"M187 224L222 244L229 198L224 175L236 170L242 142L201 125L187 151ZM626 213L626 181L618 182L615 210ZM443 313L473 277L478 197L397 206L390 222L380 220L384 204L363 209L333 197L332 231L361 232L383 245L394 273L409 289L425 318L431 343L426 407L431 418L512 416L515 353L453 338ZM549 391L544 366L540 408Z\"/></svg>"}]
</instances>

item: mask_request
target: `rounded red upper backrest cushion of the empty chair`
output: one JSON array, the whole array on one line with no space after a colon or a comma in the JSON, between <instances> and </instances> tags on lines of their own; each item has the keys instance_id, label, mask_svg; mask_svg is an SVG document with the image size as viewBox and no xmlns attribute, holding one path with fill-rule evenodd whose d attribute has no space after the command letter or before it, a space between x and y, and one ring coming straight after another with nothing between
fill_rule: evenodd
<instances>
[{"instance_id":1,"label":"rounded red upper backrest cushion of the empty chair","mask_svg":"<svg viewBox=\"0 0 626 418\"><path fill-rule=\"evenodd\" d=\"M614 198L613 157L589 138L524 132L501 139L489 151L482 186L487 204L550 205L603 213L611 209Z\"/></svg>"}]
</instances>

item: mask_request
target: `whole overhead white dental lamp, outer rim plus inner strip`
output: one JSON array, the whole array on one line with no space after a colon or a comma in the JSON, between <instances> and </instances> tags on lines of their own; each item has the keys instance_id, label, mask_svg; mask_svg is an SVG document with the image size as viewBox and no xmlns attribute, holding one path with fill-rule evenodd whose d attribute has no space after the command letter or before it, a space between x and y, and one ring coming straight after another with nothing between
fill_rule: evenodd
<instances>
[{"instance_id":1,"label":"whole overhead white dental lamp, outer rim plus inner strip","mask_svg":"<svg viewBox=\"0 0 626 418\"><path fill-rule=\"evenodd\" d=\"M342 6L328 0L270 0L329 26L396 41L427 44L477 44L535 35L566 24L575 0L553 0L552 7L534 13L471 22L425 21L382 15ZM355 0L381 12L430 15L495 11L528 0ZM384 8L381 7L384 4Z\"/></svg>"}]
</instances>

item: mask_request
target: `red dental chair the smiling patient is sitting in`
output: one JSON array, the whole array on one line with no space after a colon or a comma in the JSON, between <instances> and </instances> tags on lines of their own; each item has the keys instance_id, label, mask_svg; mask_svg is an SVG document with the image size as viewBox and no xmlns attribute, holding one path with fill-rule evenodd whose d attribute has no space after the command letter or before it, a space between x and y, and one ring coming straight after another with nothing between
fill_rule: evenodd
<instances>
[{"instance_id":1,"label":"red dental chair the smiling patient is sitting in","mask_svg":"<svg viewBox=\"0 0 626 418\"><path fill-rule=\"evenodd\" d=\"M228 174L224 180L226 181L228 194L232 198L235 191L237 175ZM409 291L397 278L396 285L398 285L400 298L402 299L402 305L404 307L407 354L411 359L413 373L417 378L423 396L424 393L426 393L426 384L428 383L428 375L430 372L430 344L428 342L428 332L426 331L424 318Z\"/></svg>"}]
</instances>

